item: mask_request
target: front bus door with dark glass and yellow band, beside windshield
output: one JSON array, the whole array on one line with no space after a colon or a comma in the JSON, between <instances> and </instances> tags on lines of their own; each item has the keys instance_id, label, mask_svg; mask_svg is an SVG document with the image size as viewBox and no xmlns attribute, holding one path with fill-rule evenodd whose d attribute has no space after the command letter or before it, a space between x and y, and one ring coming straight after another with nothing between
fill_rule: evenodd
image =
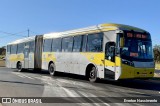
<instances>
[{"instance_id":1,"label":"front bus door with dark glass and yellow band, beside windshield","mask_svg":"<svg viewBox=\"0 0 160 106\"><path fill-rule=\"evenodd\" d=\"M107 42L105 45L105 73L107 79L115 79L115 42Z\"/></svg>"}]
</instances>

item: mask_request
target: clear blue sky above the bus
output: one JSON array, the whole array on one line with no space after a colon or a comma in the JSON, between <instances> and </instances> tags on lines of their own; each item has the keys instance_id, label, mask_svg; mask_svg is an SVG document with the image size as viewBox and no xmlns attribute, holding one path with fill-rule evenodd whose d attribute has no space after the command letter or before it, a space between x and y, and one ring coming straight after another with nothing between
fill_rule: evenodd
<instances>
[{"instance_id":1,"label":"clear blue sky above the bus","mask_svg":"<svg viewBox=\"0 0 160 106\"><path fill-rule=\"evenodd\" d=\"M119 23L160 45L160 0L0 0L0 47L29 35Z\"/></svg>"}]
</instances>

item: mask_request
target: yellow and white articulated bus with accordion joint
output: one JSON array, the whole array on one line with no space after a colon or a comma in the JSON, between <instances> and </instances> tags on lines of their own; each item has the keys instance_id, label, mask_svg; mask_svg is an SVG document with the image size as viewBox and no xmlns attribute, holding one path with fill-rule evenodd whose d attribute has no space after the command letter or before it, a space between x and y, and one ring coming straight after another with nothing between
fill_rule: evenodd
<instances>
[{"instance_id":1,"label":"yellow and white articulated bus with accordion joint","mask_svg":"<svg viewBox=\"0 0 160 106\"><path fill-rule=\"evenodd\" d=\"M122 24L99 24L16 40L7 45L8 68L47 70L100 79L154 76L150 33Z\"/></svg>"}]
</instances>

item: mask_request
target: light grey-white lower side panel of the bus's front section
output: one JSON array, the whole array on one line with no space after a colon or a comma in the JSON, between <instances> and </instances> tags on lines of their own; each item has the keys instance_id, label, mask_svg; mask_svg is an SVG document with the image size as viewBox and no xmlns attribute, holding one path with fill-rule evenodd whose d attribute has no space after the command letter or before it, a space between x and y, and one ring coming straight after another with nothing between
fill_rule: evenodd
<instances>
[{"instance_id":1,"label":"light grey-white lower side panel of the bus's front section","mask_svg":"<svg viewBox=\"0 0 160 106\"><path fill-rule=\"evenodd\" d=\"M54 53L56 61L54 62L56 71L73 73L79 75L86 74L87 65L90 61L81 53ZM44 57L44 56L43 56ZM45 57L44 57L45 58ZM52 59L50 61L53 61ZM94 64L94 63L92 63ZM49 62L42 62L42 69L48 70ZM95 64L94 64L95 65ZM97 66L97 77L104 78L104 66Z\"/></svg>"}]
</instances>

